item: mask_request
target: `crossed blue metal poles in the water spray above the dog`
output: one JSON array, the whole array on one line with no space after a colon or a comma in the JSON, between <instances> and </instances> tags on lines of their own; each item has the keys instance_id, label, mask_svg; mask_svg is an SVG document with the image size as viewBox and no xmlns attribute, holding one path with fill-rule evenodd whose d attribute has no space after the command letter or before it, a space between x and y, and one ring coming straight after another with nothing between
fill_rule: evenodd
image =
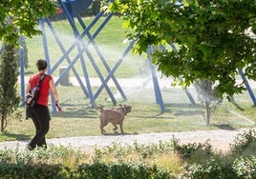
<instances>
[{"instance_id":1,"label":"crossed blue metal poles in the water spray above the dog","mask_svg":"<svg viewBox=\"0 0 256 179\"><path fill-rule=\"evenodd\" d=\"M56 70L59 65L66 59L68 62L68 67L59 75L59 78L56 80L55 85L58 85L60 83L61 78L69 71L69 70L73 70L75 77L80 85L80 87L83 89L84 94L89 97L90 102L93 106L93 101L98 97L98 95L100 94L100 92L102 91L102 89L106 89L110 99L112 100L112 102L114 103L114 105L117 105L117 100L112 92L112 90L108 87L108 81L110 79L112 79L112 81L114 82L118 92L121 94L121 97L124 100L127 100L127 97L125 95L125 93L123 92L123 90L121 89L120 85L117 82L117 79L115 77L115 72L118 69L118 67L121 65L121 63L123 62L125 56L127 55L127 53L132 49L135 41L132 41L127 47L126 49L123 51L123 53L121 54L121 56L117 59L117 63L114 66L113 69L111 69L106 61L106 59L104 58L103 54L101 53L101 51L99 50L99 48L96 45L96 36L99 34L99 32L106 26L106 24L109 22L109 20L111 19L111 17L113 16L113 13L108 14L105 18L104 21L100 24L100 26L96 29L96 31L94 33L91 33L90 30L92 30L92 28L96 25L97 21L100 19L100 17L102 15L104 15L103 11L100 11L96 17L94 18L94 20L88 25L86 26L80 16L80 12L82 10L86 10L92 3L92 0L75 0L75 1L71 1L71 0L66 0L66 2L63 2L61 0L58 0L59 6L61 7L61 9L63 10L63 13L65 14L65 17L67 18L67 20L69 21L72 29L74 30L74 36L75 36L75 41L74 43L72 43L70 45L70 47L65 50L64 46L61 43L60 38L57 35L57 32L53 29L53 25L50 21L49 18L41 18L39 23L40 23L40 27L43 31L43 44L44 44L44 53L45 53L45 59L48 61L48 63L50 64L50 55L49 55L49 51L48 51L48 42L47 42L47 34L45 33L45 25L48 25L49 29L52 31L53 33L53 37L58 45L58 47L60 48L60 50L62 51L63 55L57 60L57 62L53 65L53 68L49 68L49 73L53 73L54 70ZM82 31L80 32L76 25L75 25L75 18L77 18L79 25L82 27ZM84 37L87 38L87 40L84 40ZM99 57L100 61L102 62L102 64L104 65L104 68L108 71L108 75L104 78L104 76L102 75L101 71L98 69L98 67L96 66L96 61L91 53L91 51L89 50L89 47L92 46L94 48L94 50L96 50L96 54ZM75 58L71 59L69 57L70 53L75 50L75 48L77 49L78 53L75 56ZM96 74L99 77L100 81L101 81L101 85L100 87L96 90L96 93L93 93L93 90L91 88L91 84L90 84L90 80L89 80L89 75L87 72L87 64L85 63L85 59L84 59L84 55L86 55L87 59L89 59L89 62L93 65L94 69L96 70ZM86 86L84 85L82 79L80 78L80 75L77 73L77 71L75 70L75 63L77 61L80 61L82 70L83 70L83 75L84 75L84 79L85 79L85 83ZM158 92L156 92L156 97L157 97L157 102L160 103L160 107L161 110L164 111L164 106L162 103L162 99L160 96L160 89L159 89L159 85L157 84L157 79L154 78L153 75L153 79L154 79L154 88L157 90L158 88ZM160 99L159 99L160 96ZM53 104L53 96L52 96L52 104ZM55 111L54 109L55 107L53 107L53 111Z\"/></svg>"}]
</instances>

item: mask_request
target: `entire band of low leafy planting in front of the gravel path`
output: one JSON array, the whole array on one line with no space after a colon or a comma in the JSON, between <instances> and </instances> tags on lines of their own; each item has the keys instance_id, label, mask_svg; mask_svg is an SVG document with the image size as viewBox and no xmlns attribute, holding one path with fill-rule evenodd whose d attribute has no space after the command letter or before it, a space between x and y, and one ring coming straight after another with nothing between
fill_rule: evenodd
<instances>
[{"instance_id":1,"label":"entire band of low leafy planting in front of the gravel path","mask_svg":"<svg viewBox=\"0 0 256 179\"><path fill-rule=\"evenodd\" d=\"M246 136L248 135L253 138L250 132L246 132ZM170 157L170 151L182 159L179 172L174 173L156 162L163 154ZM127 155L131 155L130 158ZM195 160L195 156L200 157ZM68 160L73 165L68 164ZM18 148L0 150L2 178L238 179L254 178L255 165L256 157L253 154L245 156L242 152L237 157L232 153L213 151L207 141L205 144L179 145L176 139L149 145L114 144L104 149L96 149L91 156L80 150L53 146L33 151Z\"/></svg>"}]
</instances>

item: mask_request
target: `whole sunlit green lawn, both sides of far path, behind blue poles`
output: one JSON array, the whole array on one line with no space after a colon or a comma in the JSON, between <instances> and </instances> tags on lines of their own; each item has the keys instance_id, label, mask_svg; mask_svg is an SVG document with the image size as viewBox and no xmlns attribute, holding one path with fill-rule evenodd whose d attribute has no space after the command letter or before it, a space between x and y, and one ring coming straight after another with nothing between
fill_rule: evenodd
<instances>
[{"instance_id":1,"label":"whole sunlit green lawn, both sides of far path, behind blue poles","mask_svg":"<svg viewBox=\"0 0 256 179\"><path fill-rule=\"evenodd\" d=\"M92 21L92 18L84 19L86 24ZM102 21L103 19L101 19ZM122 20L114 17L105 27L104 30L96 37L97 47L100 49L110 68L113 68L125 47L123 39L125 32L121 28ZM53 27L57 30L61 37L61 42L65 49L74 42L73 32L66 21L53 22ZM94 33L94 30L92 30ZM62 55L59 48L55 45L53 37L47 30L49 51L51 56L51 67L57 62ZM87 39L84 39L85 42ZM27 39L29 49L29 65L26 70L26 75L31 75L35 72L34 63L38 58L44 58L42 39L40 36L35 36L32 39ZM103 67L100 59L97 57L95 49L90 46L90 51L95 58L97 67L102 72L103 76L108 74ZM77 50L75 49L71 55L71 60L74 59ZM90 77L96 77L96 70L92 67L92 63L88 59L88 55L84 55L86 68ZM141 71L145 65L146 57L144 55L134 55L131 52L125 57L123 63L116 71L115 76L118 78L137 78L141 77ZM60 66L67 66L68 63L64 60ZM80 76L83 76L81 64L79 61L75 63L75 69ZM144 68L144 70L148 70ZM53 72L53 76L57 77L59 71ZM70 75L74 76L73 71ZM144 74L145 75L145 74ZM151 77L151 74L146 74L145 78ZM149 82L149 83L152 83ZM252 122L256 122L255 107L252 106L252 101L245 91L243 94L234 96L238 104L244 108L241 111L232 104L224 100L222 106L215 110L211 117L211 125L206 127L203 121L204 109L197 105L192 105L188 100L185 92L179 88L172 88L171 84L161 89L161 94L165 106L165 112L160 112L160 106L156 104L154 89L137 86L134 88L125 89L128 101L124 102L118 99L118 103L128 103L133 107L124 122L124 131L126 133L142 133L142 132L161 132L161 131L182 131L182 130L198 130L198 129L238 129L249 128L255 126ZM62 112L52 113L53 119L51 129L47 135L51 137L70 137L83 135L100 135L98 111L92 109L89 104L89 99L85 96L80 87L57 86L60 96L60 105ZM97 88L93 88L96 92ZM116 88L111 88L114 94L118 93ZM254 90L255 92L255 90ZM197 96L194 94L195 100ZM103 91L96 99L98 105L104 107L112 107L113 104L109 100L107 92ZM51 106L50 109L52 110ZM29 139L34 133L32 120L25 120L25 109L19 108L20 117L12 117L9 120L8 128L4 133L0 134L0 141L5 140L20 140ZM247 120L248 119L248 120ZM106 127L108 133L113 133L112 126ZM118 130L119 131L119 130Z\"/></svg>"}]
</instances>

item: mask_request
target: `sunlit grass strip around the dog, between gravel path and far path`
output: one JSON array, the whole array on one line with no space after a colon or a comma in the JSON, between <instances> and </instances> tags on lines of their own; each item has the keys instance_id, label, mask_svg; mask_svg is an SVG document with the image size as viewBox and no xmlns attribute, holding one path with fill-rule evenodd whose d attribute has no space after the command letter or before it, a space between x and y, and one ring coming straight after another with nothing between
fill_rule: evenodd
<instances>
[{"instance_id":1,"label":"sunlit grass strip around the dog, between gravel path and far path","mask_svg":"<svg viewBox=\"0 0 256 179\"><path fill-rule=\"evenodd\" d=\"M51 129L47 134L47 138L101 135L98 119L99 112L96 109L92 109L89 99L84 96L81 89L79 87L59 86L58 90L63 111L52 113ZM244 98L245 96L246 93ZM148 96L148 98L153 97L152 95ZM239 98L237 97L238 101ZM146 98L141 98L127 102L118 101L118 104L128 103L133 107L132 111L125 116L123 124L125 133L240 129L253 126L251 122L241 116L256 122L255 108L251 106L249 99L247 99L248 102L246 103L240 103L245 109L244 111L224 101L218 109L213 111L210 119L211 125L209 126L205 126L203 120L204 109L200 106L173 102L164 104L165 112L161 112L158 104L154 101L147 103L146 100ZM105 100L103 96L100 96L96 103L106 108L113 107L113 103ZM52 110L52 107L49 107ZM9 120L8 128L4 133L0 134L0 141L30 139L33 136L32 120L25 120L25 108L19 108L19 111L22 117ZM235 111L239 116L230 113L230 111ZM109 134L115 133L111 124L105 129ZM117 129L117 133L119 132L119 129Z\"/></svg>"}]
</instances>

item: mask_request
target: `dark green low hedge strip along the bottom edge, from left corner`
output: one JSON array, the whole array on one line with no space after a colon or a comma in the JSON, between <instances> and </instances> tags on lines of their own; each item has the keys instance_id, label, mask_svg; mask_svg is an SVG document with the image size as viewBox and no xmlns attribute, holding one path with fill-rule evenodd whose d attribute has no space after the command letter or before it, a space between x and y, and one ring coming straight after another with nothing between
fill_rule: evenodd
<instances>
[{"instance_id":1,"label":"dark green low hedge strip along the bottom edge, from left corner","mask_svg":"<svg viewBox=\"0 0 256 179\"><path fill-rule=\"evenodd\" d=\"M123 162L123 163L86 163L77 169L70 169L61 164L28 164L28 163L0 163L1 179L20 178L91 178L91 179L168 179L171 177L167 169L160 169L156 165L147 166L143 163Z\"/></svg>"}]
</instances>

